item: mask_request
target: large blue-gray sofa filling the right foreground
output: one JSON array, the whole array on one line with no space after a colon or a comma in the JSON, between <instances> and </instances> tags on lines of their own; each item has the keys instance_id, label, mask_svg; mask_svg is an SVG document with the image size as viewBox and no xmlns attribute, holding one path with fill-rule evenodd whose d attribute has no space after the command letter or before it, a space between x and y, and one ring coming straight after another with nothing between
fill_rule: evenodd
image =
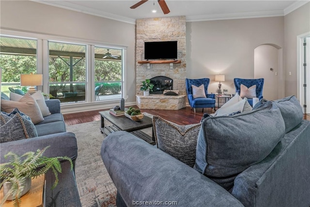
<instances>
[{"instance_id":1,"label":"large blue-gray sofa filling the right foreground","mask_svg":"<svg viewBox=\"0 0 310 207\"><path fill-rule=\"evenodd\" d=\"M272 106L281 103L275 101ZM263 101L260 104L263 105ZM271 106L270 102L268 104ZM233 187L229 190L217 184L215 177L203 175L194 169L195 166L187 166L128 132L110 134L102 143L101 156L118 190L117 206L164 206L177 202L182 207L309 207L310 122L302 120L299 103L294 107L288 105L284 110L279 106L282 117L269 116L268 112L262 117L259 108L232 116L208 117L202 122L199 136L207 136L203 135L203 130L217 120L230 123L226 126L231 127L232 133L237 131L235 128L240 128L235 123L237 120L248 123L241 127L243 131L248 127L253 134L264 130L260 127L265 120L269 129L279 127L283 130L284 136L267 157L231 176ZM274 110L279 112L279 109ZM281 126L272 124L273 121ZM219 123L214 127L219 127ZM225 126L219 130L226 130ZM256 136L256 139L262 138L259 134ZM198 141L197 151L200 144ZM196 157L195 165L197 161Z\"/></svg>"}]
</instances>

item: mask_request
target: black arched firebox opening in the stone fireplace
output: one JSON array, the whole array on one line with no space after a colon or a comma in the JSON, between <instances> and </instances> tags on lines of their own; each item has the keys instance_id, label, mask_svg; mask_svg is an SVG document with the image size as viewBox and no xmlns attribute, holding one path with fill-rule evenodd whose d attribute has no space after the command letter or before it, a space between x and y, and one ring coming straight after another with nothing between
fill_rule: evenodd
<instances>
[{"instance_id":1,"label":"black arched firebox opening in the stone fireplace","mask_svg":"<svg viewBox=\"0 0 310 207\"><path fill-rule=\"evenodd\" d=\"M150 94L162 94L164 90L173 90L173 80L166 76L156 76L150 79L154 84L153 91Z\"/></svg>"}]
</instances>

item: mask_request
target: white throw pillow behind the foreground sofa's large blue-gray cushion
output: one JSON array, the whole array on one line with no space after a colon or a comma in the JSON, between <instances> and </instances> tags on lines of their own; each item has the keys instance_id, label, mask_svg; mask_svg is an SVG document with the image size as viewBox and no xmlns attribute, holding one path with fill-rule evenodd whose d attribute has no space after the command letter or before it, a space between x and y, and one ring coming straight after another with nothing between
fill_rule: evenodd
<instances>
[{"instance_id":1,"label":"white throw pillow behind the foreground sofa's large blue-gray cushion","mask_svg":"<svg viewBox=\"0 0 310 207\"><path fill-rule=\"evenodd\" d=\"M226 106L224 108L223 108L223 106L216 111L214 116L223 116L223 115L231 114L231 113L234 113L237 111L245 112L245 111L251 111L252 110L252 107L248 103L248 98L244 98L241 101L233 103L233 104Z\"/></svg>"}]
</instances>

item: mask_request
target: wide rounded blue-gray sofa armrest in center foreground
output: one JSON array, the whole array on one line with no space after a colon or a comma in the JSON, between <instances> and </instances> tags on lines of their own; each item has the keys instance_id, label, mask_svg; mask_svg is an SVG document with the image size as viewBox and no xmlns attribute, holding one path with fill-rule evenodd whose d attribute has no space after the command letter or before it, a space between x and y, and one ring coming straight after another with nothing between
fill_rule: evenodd
<instances>
[{"instance_id":1,"label":"wide rounded blue-gray sofa armrest in center foreground","mask_svg":"<svg viewBox=\"0 0 310 207\"><path fill-rule=\"evenodd\" d=\"M243 207L206 176L128 132L111 133L102 143L101 157L128 207L149 201Z\"/></svg>"}]
</instances>

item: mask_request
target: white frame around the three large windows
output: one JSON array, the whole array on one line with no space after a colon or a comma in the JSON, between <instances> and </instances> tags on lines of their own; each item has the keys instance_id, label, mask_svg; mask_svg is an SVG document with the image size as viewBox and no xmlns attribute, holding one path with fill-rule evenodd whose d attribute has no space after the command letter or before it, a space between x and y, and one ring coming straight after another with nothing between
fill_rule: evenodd
<instances>
[{"instance_id":1,"label":"white frame around the three large windows","mask_svg":"<svg viewBox=\"0 0 310 207\"><path fill-rule=\"evenodd\" d=\"M106 100L106 101L95 101L94 91L94 46L105 47L105 48L115 48L122 50L122 97L127 98L126 94L126 55L127 55L127 46L123 45L114 45L103 42L96 42L90 40L82 40L77 38L69 38L62 36L53 36L47 34L38 34L31 32L19 32L11 30L0 30L1 35L8 37L16 38L27 38L37 40L37 73L43 74L43 86L40 86L39 89L44 93L48 91L48 41L53 42L62 42L69 44L80 44L86 45L86 98L85 102L81 103L72 103L62 105L62 112L78 112L78 111L89 111L103 108L111 108L115 106L115 103L118 103L119 100ZM89 96L91 95L91 96ZM104 102L104 106L103 106Z\"/></svg>"}]
</instances>

